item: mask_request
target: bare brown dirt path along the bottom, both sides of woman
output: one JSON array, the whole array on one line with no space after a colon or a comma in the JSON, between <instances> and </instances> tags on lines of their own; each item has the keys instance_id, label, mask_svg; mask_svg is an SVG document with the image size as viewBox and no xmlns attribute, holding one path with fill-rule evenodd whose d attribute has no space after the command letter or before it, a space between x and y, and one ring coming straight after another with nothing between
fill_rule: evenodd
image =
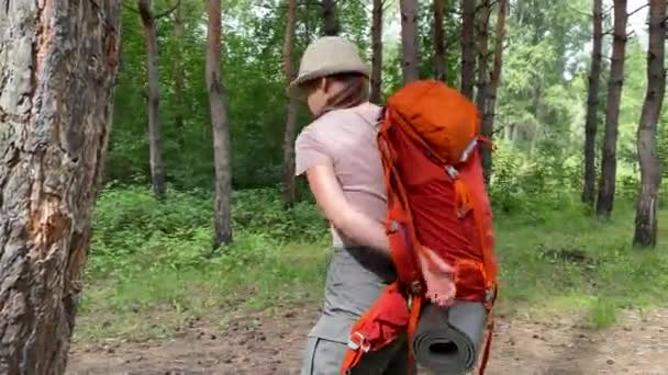
<instances>
[{"instance_id":1,"label":"bare brown dirt path along the bottom, both sides of woman","mask_svg":"<svg viewBox=\"0 0 668 375\"><path fill-rule=\"evenodd\" d=\"M169 341L76 346L67 374L297 374L314 311L193 323ZM499 319L489 374L668 374L668 310L627 312L593 332L577 318Z\"/></svg>"}]
</instances>

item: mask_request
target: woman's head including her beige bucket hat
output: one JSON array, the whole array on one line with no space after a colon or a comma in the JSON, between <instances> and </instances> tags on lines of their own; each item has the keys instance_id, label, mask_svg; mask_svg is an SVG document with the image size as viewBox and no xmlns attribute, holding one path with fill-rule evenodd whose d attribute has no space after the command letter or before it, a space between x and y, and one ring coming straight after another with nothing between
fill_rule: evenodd
<instances>
[{"instance_id":1,"label":"woman's head including her beige bucket hat","mask_svg":"<svg viewBox=\"0 0 668 375\"><path fill-rule=\"evenodd\" d=\"M305 98L311 112L320 116L368 101L369 73L354 44L325 36L307 48L289 90Z\"/></svg>"}]
</instances>

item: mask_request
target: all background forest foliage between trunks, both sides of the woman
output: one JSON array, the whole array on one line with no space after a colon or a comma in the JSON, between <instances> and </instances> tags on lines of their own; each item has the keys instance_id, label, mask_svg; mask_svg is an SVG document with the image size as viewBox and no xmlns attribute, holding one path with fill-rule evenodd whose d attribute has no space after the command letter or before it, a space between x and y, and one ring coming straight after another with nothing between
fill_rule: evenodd
<instances>
[{"instance_id":1,"label":"all background forest foliage between trunks, both sides of the woman","mask_svg":"<svg viewBox=\"0 0 668 375\"><path fill-rule=\"evenodd\" d=\"M458 4L446 2L445 43L447 81L459 82L460 32ZM157 1L156 10L170 2ZM209 103L204 86L205 13L202 3L183 2L185 36L175 38L174 15L157 22L160 77L162 151L168 181L176 189L210 189L212 180L212 136ZM402 84L399 3L390 2L385 16L386 43L383 92ZM496 9L496 7L494 7ZM282 130L286 114L282 77L282 38L285 1L255 3L226 1L223 13L223 82L226 89L232 137L232 174L235 189L272 188L280 182ZM581 46L591 39L590 3L578 1L512 2L506 23L502 84L499 91L497 127L503 141L522 160L524 173L534 175L534 188L523 181L523 190L541 191L545 179L569 174L582 152L588 50ZM363 54L370 56L370 8L358 1L338 3L342 34L355 41ZM545 22L549 20L549 22ZM496 12L490 19L490 48L494 42ZM305 45L322 33L321 9L298 8L297 37L292 61L297 65ZM635 132L645 89L645 56L637 38L628 42L621 121L619 174L623 194L633 195L638 178ZM604 54L609 54L606 44ZM431 1L420 2L419 60L424 78L433 77L433 11ZM490 49L491 50L491 49ZM176 107L175 58L181 57L185 88L182 105ZM146 128L146 53L138 15L123 10L122 66L114 111L114 127L108 156L107 179L123 183L146 183L148 145ZM599 116L604 116L608 63L601 75ZM176 127L177 112L185 124ZM310 121L300 109L299 125ZM602 136L602 127L599 137ZM660 139L660 138L659 138ZM500 139L497 139L500 140ZM663 147L661 145L659 145ZM505 146L504 146L505 147ZM666 152L664 152L666 154ZM546 159L547 158L547 159ZM501 157L503 159L503 157ZM560 167L544 167L546 160L564 161ZM552 162L550 161L550 162ZM499 160L498 164L503 164ZM528 171L527 169L535 169ZM547 168L547 170L546 170ZM574 180L569 180L575 182ZM560 184L564 180L549 182ZM548 183L548 182L545 182ZM579 181L577 182L580 183ZM497 194L498 196L498 194Z\"/></svg>"}]
</instances>

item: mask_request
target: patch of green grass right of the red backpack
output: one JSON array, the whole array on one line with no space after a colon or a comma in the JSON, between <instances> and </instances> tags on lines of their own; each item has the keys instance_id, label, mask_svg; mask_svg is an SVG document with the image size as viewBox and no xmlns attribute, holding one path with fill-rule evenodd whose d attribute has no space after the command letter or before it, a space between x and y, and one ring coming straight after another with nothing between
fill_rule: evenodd
<instances>
[{"instance_id":1,"label":"patch of green grass right of the red backpack","mask_svg":"<svg viewBox=\"0 0 668 375\"><path fill-rule=\"evenodd\" d=\"M619 204L610 223L566 206L532 225L525 217L497 226L501 309L559 314L588 310L590 323L605 328L619 308L652 307L668 288L668 232L654 250L634 249L634 213ZM659 214L659 223L668 212Z\"/></svg>"}]
</instances>

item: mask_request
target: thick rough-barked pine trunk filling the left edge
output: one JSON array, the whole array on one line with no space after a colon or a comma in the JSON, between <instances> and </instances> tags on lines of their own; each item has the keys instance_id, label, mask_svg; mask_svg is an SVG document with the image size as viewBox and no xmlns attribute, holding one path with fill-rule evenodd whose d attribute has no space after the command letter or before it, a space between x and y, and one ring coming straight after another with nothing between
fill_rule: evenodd
<instances>
[{"instance_id":1,"label":"thick rough-barked pine trunk filling the left edge","mask_svg":"<svg viewBox=\"0 0 668 375\"><path fill-rule=\"evenodd\" d=\"M0 374L65 373L109 139L119 18L119 0L0 9Z\"/></svg>"}]
</instances>

